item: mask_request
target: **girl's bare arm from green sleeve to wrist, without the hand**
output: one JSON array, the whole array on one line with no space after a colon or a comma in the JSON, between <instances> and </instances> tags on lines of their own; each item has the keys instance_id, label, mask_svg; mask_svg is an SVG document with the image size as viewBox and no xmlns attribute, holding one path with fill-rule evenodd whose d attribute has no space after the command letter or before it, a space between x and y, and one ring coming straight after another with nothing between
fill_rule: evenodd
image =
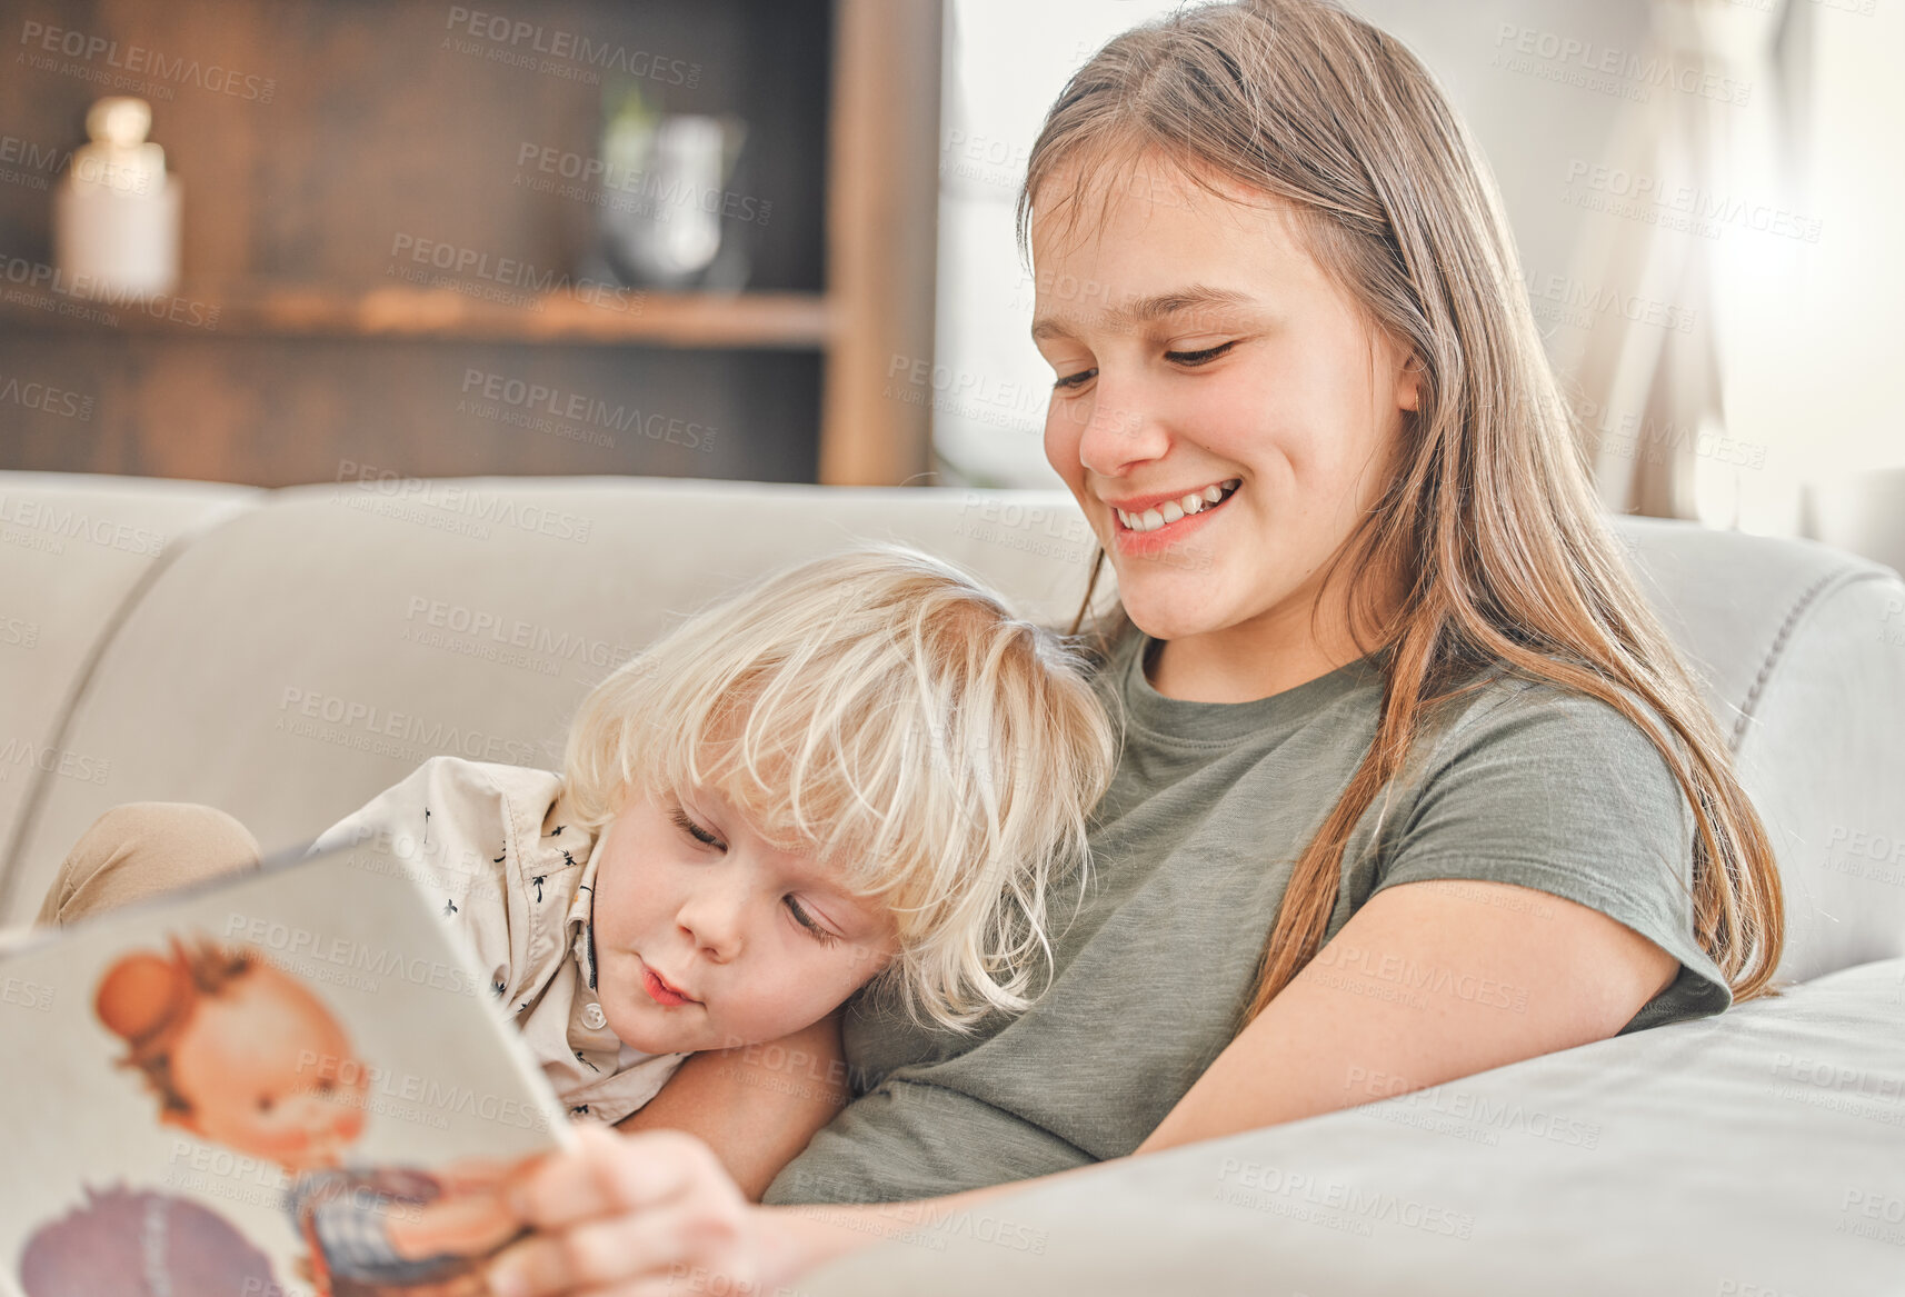
<instances>
[{"instance_id":1,"label":"girl's bare arm from green sleeve to wrist, without the hand","mask_svg":"<svg viewBox=\"0 0 1905 1297\"><path fill-rule=\"evenodd\" d=\"M1490 905L1488 895L1501 903ZM1539 905L1526 905L1534 897ZM1132 1156L1604 1040L1678 969L1674 956L1625 924L1554 895L1495 882L1389 888L1238 1032ZM916 1204L764 1207L785 1213L768 1236L792 1267L789 1274L800 1274L882 1234L930 1228L935 1213L1099 1166Z\"/></svg>"}]
</instances>

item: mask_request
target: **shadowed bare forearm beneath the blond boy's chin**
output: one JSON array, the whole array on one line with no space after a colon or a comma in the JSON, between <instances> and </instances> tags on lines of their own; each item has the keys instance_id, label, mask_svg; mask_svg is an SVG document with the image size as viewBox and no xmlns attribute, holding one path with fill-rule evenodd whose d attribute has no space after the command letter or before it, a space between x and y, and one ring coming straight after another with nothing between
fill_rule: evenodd
<instances>
[{"instance_id":1,"label":"shadowed bare forearm beneath the blond boy's chin","mask_svg":"<svg viewBox=\"0 0 1905 1297\"><path fill-rule=\"evenodd\" d=\"M695 1053L615 1129L688 1131L714 1150L749 1202L760 1202L781 1167L853 1097L840 1013L764 1046Z\"/></svg>"}]
</instances>

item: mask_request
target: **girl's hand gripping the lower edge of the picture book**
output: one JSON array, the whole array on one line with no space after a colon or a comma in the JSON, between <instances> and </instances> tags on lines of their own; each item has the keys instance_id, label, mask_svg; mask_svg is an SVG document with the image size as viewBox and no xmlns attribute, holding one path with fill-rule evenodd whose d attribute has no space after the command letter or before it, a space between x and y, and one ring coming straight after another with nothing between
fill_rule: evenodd
<instances>
[{"instance_id":1,"label":"girl's hand gripping the lower edge of the picture book","mask_svg":"<svg viewBox=\"0 0 1905 1297\"><path fill-rule=\"evenodd\" d=\"M572 1154L541 1154L509 1183L516 1219L535 1232L490 1263L497 1297L575 1291L671 1291L699 1270L718 1291L762 1293L770 1274L768 1213L751 1206L714 1150L682 1131L615 1135L575 1129Z\"/></svg>"}]
</instances>

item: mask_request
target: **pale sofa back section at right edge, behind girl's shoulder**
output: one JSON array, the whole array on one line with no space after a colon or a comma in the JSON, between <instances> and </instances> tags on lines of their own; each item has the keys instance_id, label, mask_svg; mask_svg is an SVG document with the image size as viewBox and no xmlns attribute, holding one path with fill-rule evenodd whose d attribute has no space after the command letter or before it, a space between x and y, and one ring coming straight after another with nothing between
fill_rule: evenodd
<instances>
[{"instance_id":1,"label":"pale sofa back section at right edge, behind girl's shoulder","mask_svg":"<svg viewBox=\"0 0 1905 1297\"><path fill-rule=\"evenodd\" d=\"M1779 977L1905 954L1905 583L1812 541L1619 528L1772 836Z\"/></svg>"}]
</instances>

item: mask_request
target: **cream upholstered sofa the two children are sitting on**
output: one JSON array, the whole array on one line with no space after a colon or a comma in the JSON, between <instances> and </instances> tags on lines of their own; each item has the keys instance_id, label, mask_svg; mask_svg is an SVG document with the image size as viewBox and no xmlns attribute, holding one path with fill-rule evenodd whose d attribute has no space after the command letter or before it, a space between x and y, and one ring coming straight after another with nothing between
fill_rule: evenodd
<instances>
[{"instance_id":1,"label":"cream upholstered sofa the two children are sitting on","mask_svg":"<svg viewBox=\"0 0 1905 1297\"><path fill-rule=\"evenodd\" d=\"M1617 526L1774 832L1787 996L1107 1166L800 1291L1905 1293L1905 585ZM0 922L120 802L223 806L274 849L432 752L552 766L671 613L863 535L1052 621L1092 556L1040 491L0 472Z\"/></svg>"}]
</instances>

